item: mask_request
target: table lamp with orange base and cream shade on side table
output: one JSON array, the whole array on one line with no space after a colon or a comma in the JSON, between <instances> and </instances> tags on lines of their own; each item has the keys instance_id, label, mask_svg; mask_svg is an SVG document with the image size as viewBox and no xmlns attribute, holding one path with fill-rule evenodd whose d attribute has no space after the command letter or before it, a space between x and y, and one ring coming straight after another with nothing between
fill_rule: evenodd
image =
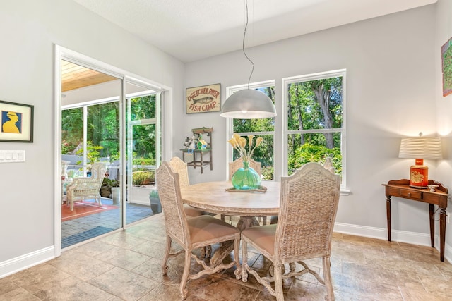
<instances>
[{"instance_id":1,"label":"table lamp with orange base and cream shade on side table","mask_svg":"<svg viewBox=\"0 0 452 301\"><path fill-rule=\"evenodd\" d=\"M399 158L415 159L415 165L410 166L410 186L427 188L429 184L429 168L424 165L424 159L442 159L440 137L403 138L400 142Z\"/></svg>"}]
</instances>

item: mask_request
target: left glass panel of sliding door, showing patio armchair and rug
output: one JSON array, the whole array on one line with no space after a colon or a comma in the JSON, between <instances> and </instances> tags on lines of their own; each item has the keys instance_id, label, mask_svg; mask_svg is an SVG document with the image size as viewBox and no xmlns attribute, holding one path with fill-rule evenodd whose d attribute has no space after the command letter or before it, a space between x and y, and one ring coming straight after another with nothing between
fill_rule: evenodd
<instances>
[{"instance_id":1,"label":"left glass panel of sliding door, showing patio armchair and rug","mask_svg":"<svg viewBox=\"0 0 452 301\"><path fill-rule=\"evenodd\" d=\"M61 248L121 228L122 80L61 61ZM105 170L97 171L97 162ZM89 189L88 189L89 186Z\"/></svg>"}]
</instances>

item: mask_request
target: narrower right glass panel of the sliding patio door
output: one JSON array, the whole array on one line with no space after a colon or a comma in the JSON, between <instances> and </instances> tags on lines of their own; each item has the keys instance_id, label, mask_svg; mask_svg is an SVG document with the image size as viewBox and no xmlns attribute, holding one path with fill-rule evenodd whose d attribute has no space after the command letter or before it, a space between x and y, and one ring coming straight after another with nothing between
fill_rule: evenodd
<instances>
[{"instance_id":1,"label":"narrower right glass panel of the sliding patio door","mask_svg":"<svg viewBox=\"0 0 452 301\"><path fill-rule=\"evenodd\" d=\"M127 89L138 89L130 85ZM155 187L161 161L160 92L143 90L126 98L126 224L162 211Z\"/></svg>"}]
</instances>

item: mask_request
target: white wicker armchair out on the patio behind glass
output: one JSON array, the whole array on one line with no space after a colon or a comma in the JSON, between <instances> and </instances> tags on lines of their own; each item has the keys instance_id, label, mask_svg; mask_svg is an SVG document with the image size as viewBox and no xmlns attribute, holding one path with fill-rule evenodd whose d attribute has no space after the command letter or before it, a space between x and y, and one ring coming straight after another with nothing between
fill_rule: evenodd
<instances>
[{"instance_id":1,"label":"white wicker armchair out on the patio behind glass","mask_svg":"<svg viewBox=\"0 0 452 301\"><path fill-rule=\"evenodd\" d=\"M93 198L95 202L102 205L100 186L102 186L106 170L105 162L95 162L91 166L90 177L74 178L73 182L66 186L66 195L71 211L73 211L73 203L76 200Z\"/></svg>"}]
</instances>

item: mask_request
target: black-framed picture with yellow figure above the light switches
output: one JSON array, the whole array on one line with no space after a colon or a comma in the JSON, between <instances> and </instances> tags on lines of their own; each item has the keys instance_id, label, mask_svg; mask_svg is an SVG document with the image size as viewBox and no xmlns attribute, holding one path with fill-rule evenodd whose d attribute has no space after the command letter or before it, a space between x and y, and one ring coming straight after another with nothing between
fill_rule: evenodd
<instances>
[{"instance_id":1,"label":"black-framed picture with yellow figure above the light switches","mask_svg":"<svg viewBox=\"0 0 452 301\"><path fill-rule=\"evenodd\" d=\"M33 142L33 106L0 100L0 141Z\"/></svg>"}]
</instances>

